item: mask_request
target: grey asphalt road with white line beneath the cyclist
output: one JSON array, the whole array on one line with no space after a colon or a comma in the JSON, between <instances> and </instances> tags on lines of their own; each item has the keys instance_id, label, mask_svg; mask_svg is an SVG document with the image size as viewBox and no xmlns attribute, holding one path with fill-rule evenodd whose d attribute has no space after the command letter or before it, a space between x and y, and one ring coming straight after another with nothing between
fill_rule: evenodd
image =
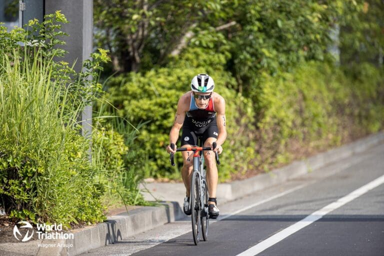
<instances>
[{"instance_id":1,"label":"grey asphalt road with white line beneath the cyclist","mask_svg":"<svg viewBox=\"0 0 384 256\"><path fill-rule=\"evenodd\" d=\"M218 205L208 241L190 218L82 255L384 256L384 145Z\"/></svg>"}]
</instances>

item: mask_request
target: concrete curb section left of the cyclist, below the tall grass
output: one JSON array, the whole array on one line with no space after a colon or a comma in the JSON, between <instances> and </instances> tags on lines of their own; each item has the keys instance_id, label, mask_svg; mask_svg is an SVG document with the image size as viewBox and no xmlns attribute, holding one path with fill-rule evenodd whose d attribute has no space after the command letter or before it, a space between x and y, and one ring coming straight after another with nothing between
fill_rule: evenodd
<instances>
[{"instance_id":1,"label":"concrete curb section left of the cyclist, below the tall grass","mask_svg":"<svg viewBox=\"0 0 384 256\"><path fill-rule=\"evenodd\" d=\"M144 232L184 216L177 202L161 202L160 206L140 207L109 217L105 222L83 228L73 239L43 240L42 244L63 244L40 247L38 256L78 255L88 250L112 244L117 240Z\"/></svg>"}]
</instances>

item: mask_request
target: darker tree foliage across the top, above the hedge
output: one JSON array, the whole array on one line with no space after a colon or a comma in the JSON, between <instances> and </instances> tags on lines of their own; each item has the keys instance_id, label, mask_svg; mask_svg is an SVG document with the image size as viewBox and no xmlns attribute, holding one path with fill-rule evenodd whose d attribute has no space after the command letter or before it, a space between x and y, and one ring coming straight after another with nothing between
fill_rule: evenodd
<instances>
[{"instance_id":1,"label":"darker tree foliage across the top, above the hedge","mask_svg":"<svg viewBox=\"0 0 384 256\"><path fill-rule=\"evenodd\" d=\"M358 50L378 54L382 4L380 0L95 0L95 41L111 51L112 69L120 72L163 66L183 47L215 49L231 55L227 67L241 91L249 89L253 73L275 74L302 59L328 59L334 28L351 31L341 33L346 52L359 45ZM352 57L350 51L347 56Z\"/></svg>"}]
</instances>

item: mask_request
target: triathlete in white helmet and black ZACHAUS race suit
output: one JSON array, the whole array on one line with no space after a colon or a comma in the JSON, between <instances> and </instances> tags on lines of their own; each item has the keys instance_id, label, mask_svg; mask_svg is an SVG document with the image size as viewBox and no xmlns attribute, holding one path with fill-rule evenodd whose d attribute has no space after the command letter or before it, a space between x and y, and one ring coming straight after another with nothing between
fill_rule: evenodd
<instances>
[{"instance_id":1,"label":"triathlete in white helmet and black ZACHAUS race suit","mask_svg":"<svg viewBox=\"0 0 384 256\"><path fill-rule=\"evenodd\" d=\"M178 100L177 111L172 128L169 132L169 144L176 144L179 130L182 127L181 147L197 145L197 136L202 136L203 146L212 147L216 141L213 151L222 152L222 143L226 138L225 127L225 101L216 92L213 92L214 81L207 74L197 74L190 83L191 90L184 93ZM170 145L166 147L168 153L175 152ZM183 211L190 215L189 193L190 180L193 171L193 153L182 151L183 166L181 176L184 181L186 196L183 203ZM216 201L217 188L217 166L212 151L204 152L206 164L206 179L209 189L208 211L211 218L217 218L219 209Z\"/></svg>"}]
</instances>

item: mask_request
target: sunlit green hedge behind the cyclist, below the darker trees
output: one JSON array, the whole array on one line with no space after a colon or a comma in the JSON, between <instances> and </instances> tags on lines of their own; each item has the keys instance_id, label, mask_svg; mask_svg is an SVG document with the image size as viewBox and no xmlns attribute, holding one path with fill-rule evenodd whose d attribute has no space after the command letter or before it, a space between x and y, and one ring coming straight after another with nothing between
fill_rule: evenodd
<instances>
[{"instance_id":1,"label":"sunlit green hedge behind the cyclist, below the darker trees","mask_svg":"<svg viewBox=\"0 0 384 256\"><path fill-rule=\"evenodd\" d=\"M356 66L358 71L348 76L345 73L351 70L303 62L292 72L262 73L252 85L252 94L240 95L231 89L236 81L222 68L225 57L207 54L202 62L209 68L203 69L189 58L193 53L189 50L170 67L120 75L107 83L107 97L120 115L132 123L148 121L137 140L139 154L149 159L145 176L179 178L181 157L171 168L164 147L178 97L189 89L193 75L207 70L227 104L221 181L242 178L249 171L267 171L382 128L384 77L372 65Z\"/></svg>"}]
</instances>

